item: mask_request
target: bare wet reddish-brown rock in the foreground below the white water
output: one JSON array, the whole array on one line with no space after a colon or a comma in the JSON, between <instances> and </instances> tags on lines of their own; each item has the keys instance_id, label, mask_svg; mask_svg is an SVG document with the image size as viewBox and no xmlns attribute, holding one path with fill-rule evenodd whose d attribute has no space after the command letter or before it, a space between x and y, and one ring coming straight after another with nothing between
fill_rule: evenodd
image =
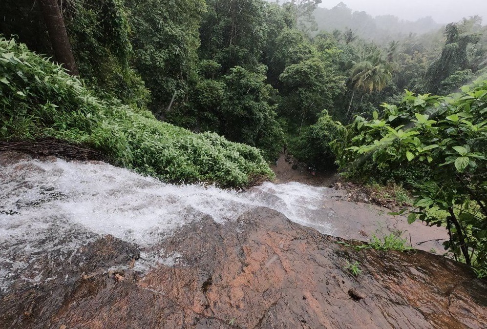
<instances>
[{"instance_id":1,"label":"bare wet reddish-brown rock in the foreground below the white water","mask_svg":"<svg viewBox=\"0 0 487 329\"><path fill-rule=\"evenodd\" d=\"M0 328L487 328L486 281L461 264L355 251L268 208L183 226L156 248L182 256L141 276L137 246L82 247L57 265L65 276L3 292ZM344 268L355 261L358 277Z\"/></svg>"}]
</instances>

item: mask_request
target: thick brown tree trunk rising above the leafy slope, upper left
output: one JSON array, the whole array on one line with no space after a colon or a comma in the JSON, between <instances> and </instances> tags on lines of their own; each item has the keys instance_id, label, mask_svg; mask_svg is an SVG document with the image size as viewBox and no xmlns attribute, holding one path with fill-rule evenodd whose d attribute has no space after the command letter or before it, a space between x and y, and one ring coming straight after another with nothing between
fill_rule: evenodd
<instances>
[{"instance_id":1,"label":"thick brown tree trunk rising above the leafy slope, upper left","mask_svg":"<svg viewBox=\"0 0 487 329\"><path fill-rule=\"evenodd\" d=\"M39 4L56 61L64 64L71 75L79 75L58 0L39 0Z\"/></svg>"}]
</instances>

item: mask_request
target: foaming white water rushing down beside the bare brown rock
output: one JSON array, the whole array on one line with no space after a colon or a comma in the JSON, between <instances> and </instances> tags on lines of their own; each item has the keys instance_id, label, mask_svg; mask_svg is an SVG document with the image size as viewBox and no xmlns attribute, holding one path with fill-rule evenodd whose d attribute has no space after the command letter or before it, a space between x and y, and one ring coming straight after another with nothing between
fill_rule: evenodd
<instances>
[{"instance_id":1,"label":"foaming white water rushing down beside the bare brown rock","mask_svg":"<svg viewBox=\"0 0 487 329\"><path fill-rule=\"evenodd\" d=\"M255 206L273 208L299 224L333 233L333 227L313 216L328 198L326 187L264 183L250 192L237 192L175 186L103 163L63 160L29 160L0 169L0 288L4 289L9 278L19 275L42 250L69 261L79 247L106 234L148 248L187 223L205 216L218 223L233 221ZM143 252L142 256L140 264L168 255ZM29 282L49 279L41 268L30 272L37 275L26 277Z\"/></svg>"}]
</instances>

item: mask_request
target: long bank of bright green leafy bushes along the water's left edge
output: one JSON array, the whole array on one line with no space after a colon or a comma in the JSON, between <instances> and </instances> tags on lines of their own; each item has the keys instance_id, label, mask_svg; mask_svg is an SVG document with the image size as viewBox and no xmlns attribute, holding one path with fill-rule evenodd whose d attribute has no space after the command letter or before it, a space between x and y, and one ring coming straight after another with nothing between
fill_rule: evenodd
<instances>
[{"instance_id":1,"label":"long bank of bright green leafy bushes along the water's left edge","mask_svg":"<svg viewBox=\"0 0 487 329\"><path fill-rule=\"evenodd\" d=\"M168 182L243 186L274 176L256 148L191 133L116 100L101 101L62 67L1 38L0 139L45 137L91 146L115 165Z\"/></svg>"}]
</instances>

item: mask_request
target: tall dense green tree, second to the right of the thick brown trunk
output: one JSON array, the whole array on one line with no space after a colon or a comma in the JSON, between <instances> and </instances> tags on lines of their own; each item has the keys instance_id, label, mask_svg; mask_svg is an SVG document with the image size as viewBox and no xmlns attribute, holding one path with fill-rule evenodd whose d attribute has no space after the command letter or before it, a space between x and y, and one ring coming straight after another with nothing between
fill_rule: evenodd
<instances>
[{"instance_id":1,"label":"tall dense green tree, second to the right of the thick brown trunk","mask_svg":"<svg viewBox=\"0 0 487 329\"><path fill-rule=\"evenodd\" d=\"M125 0L133 65L152 93L150 109L164 118L188 102L194 83L204 0Z\"/></svg>"}]
</instances>

